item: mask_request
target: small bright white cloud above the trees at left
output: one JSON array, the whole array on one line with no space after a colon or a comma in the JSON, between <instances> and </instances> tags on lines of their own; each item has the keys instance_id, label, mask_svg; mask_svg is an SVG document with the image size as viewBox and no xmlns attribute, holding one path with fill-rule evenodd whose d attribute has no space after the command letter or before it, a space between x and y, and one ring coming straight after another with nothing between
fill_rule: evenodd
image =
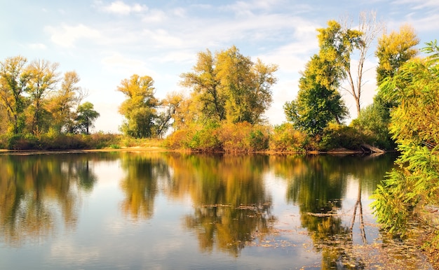
<instances>
[{"instance_id":1,"label":"small bright white cloud above the trees at left","mask_svg":"<svg viewBox=\"0 0 439 270\"><path fill-rule=\"evenodd\" d=\"M81 38L100 38L99 31L83 24L74 27L64 24L60 27L46 27L45 29L50 34L50 40L62 47L72 47L75 41Z\"/></svg>"}]
</instances>

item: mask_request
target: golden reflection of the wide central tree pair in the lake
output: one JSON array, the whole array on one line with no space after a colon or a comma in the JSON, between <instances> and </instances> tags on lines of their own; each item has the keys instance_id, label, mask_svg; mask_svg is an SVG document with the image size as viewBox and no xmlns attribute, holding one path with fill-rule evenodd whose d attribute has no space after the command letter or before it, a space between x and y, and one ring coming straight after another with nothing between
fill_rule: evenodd
<instances>
[{"instance_id":1,"label":"golden reflection of the wide central tree pair in the lake","mask_svg":"<svg viewBox=\"0 0 439 270\"><path fill-rule=\"evenodd\" d=\"M269 233L275 218L262 177L268 157L189 155L179 161L173 183L181 185L177 190L187 187L194 201L185 225L196 232L201 250L216 246L238 256L256 232Z\"/></svg>"}]
</instances>

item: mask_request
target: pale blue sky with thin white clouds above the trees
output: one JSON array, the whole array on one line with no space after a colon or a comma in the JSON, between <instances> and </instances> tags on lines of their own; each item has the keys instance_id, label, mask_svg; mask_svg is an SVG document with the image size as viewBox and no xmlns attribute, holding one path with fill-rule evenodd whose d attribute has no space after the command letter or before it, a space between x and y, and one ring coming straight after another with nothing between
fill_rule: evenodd
<instances>
[{"instance_id":1,"label":"pale blue sky with thin white clouds above the trees","mask_svg":"<svg viewBox=\"0 0 439 270\"><path fill-rule=\"evenodd\" d=\"M151 76L158 99L189 94L180 75L191 71L197 53L236 45L253 61L278 65L265 116L280 125L286 121L283 104L297 96L299 72L318 52L316 29L346 16L355 27L361 12L375 12L387 33L410 24L419 48L439 37L437 0L0 0L0 61L22 55L29 62L57 62L61 74L76 71L88 91L85 101L100 113L93 131L116 133L126 99L116 91L121 80ZM362 107L377 88L375 48L367 57ZM353 98L344 91L342 96L350 119L356 118Z\"/></svg>"}]
</instances>

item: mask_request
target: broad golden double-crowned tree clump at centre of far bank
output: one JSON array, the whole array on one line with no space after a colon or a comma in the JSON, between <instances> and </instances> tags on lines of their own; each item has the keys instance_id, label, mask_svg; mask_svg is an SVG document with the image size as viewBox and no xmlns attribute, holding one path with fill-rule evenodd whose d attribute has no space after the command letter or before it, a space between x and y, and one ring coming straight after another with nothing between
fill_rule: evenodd
<instances>
[{"instance_id":1,"label":"broad golden double-crowned tree clump at centre of far bank","mask_svg":"<svg viewBox=\"0 0 439 270\"><path fill-rule=\"evenodd\" d=\"M194 72L182 74L182 85L194 90L202 120L262 122L272 101L275 65L254 63L232 46L215 53L198 53Z\"/></svg>"}]
</instances>

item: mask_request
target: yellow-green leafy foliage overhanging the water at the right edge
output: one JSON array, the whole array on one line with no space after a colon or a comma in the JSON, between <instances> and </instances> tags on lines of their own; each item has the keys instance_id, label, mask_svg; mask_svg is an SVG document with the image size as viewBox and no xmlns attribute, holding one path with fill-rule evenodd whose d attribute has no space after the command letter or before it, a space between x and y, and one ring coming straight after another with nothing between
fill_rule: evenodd
<instances>
[{"instance_id":1,"label":"yellow-green leafy foliage overhanging the water at the right edge","mask_svg":"<svg viewBox=\"0 0 439 270\"><path fill-rule=\"evenodd\" d=\"M397 101L390 131L401 155L379 185L374 213L393 234L410 232L424 206L439 204L439 48L427 43L424 59L412 59L381 85L383 96ZM426 220L423 220L427 222ZM439 234L439 229L435 229ZM435 247L439 248L439 247Z\"/></svg>"}]
</instances>

